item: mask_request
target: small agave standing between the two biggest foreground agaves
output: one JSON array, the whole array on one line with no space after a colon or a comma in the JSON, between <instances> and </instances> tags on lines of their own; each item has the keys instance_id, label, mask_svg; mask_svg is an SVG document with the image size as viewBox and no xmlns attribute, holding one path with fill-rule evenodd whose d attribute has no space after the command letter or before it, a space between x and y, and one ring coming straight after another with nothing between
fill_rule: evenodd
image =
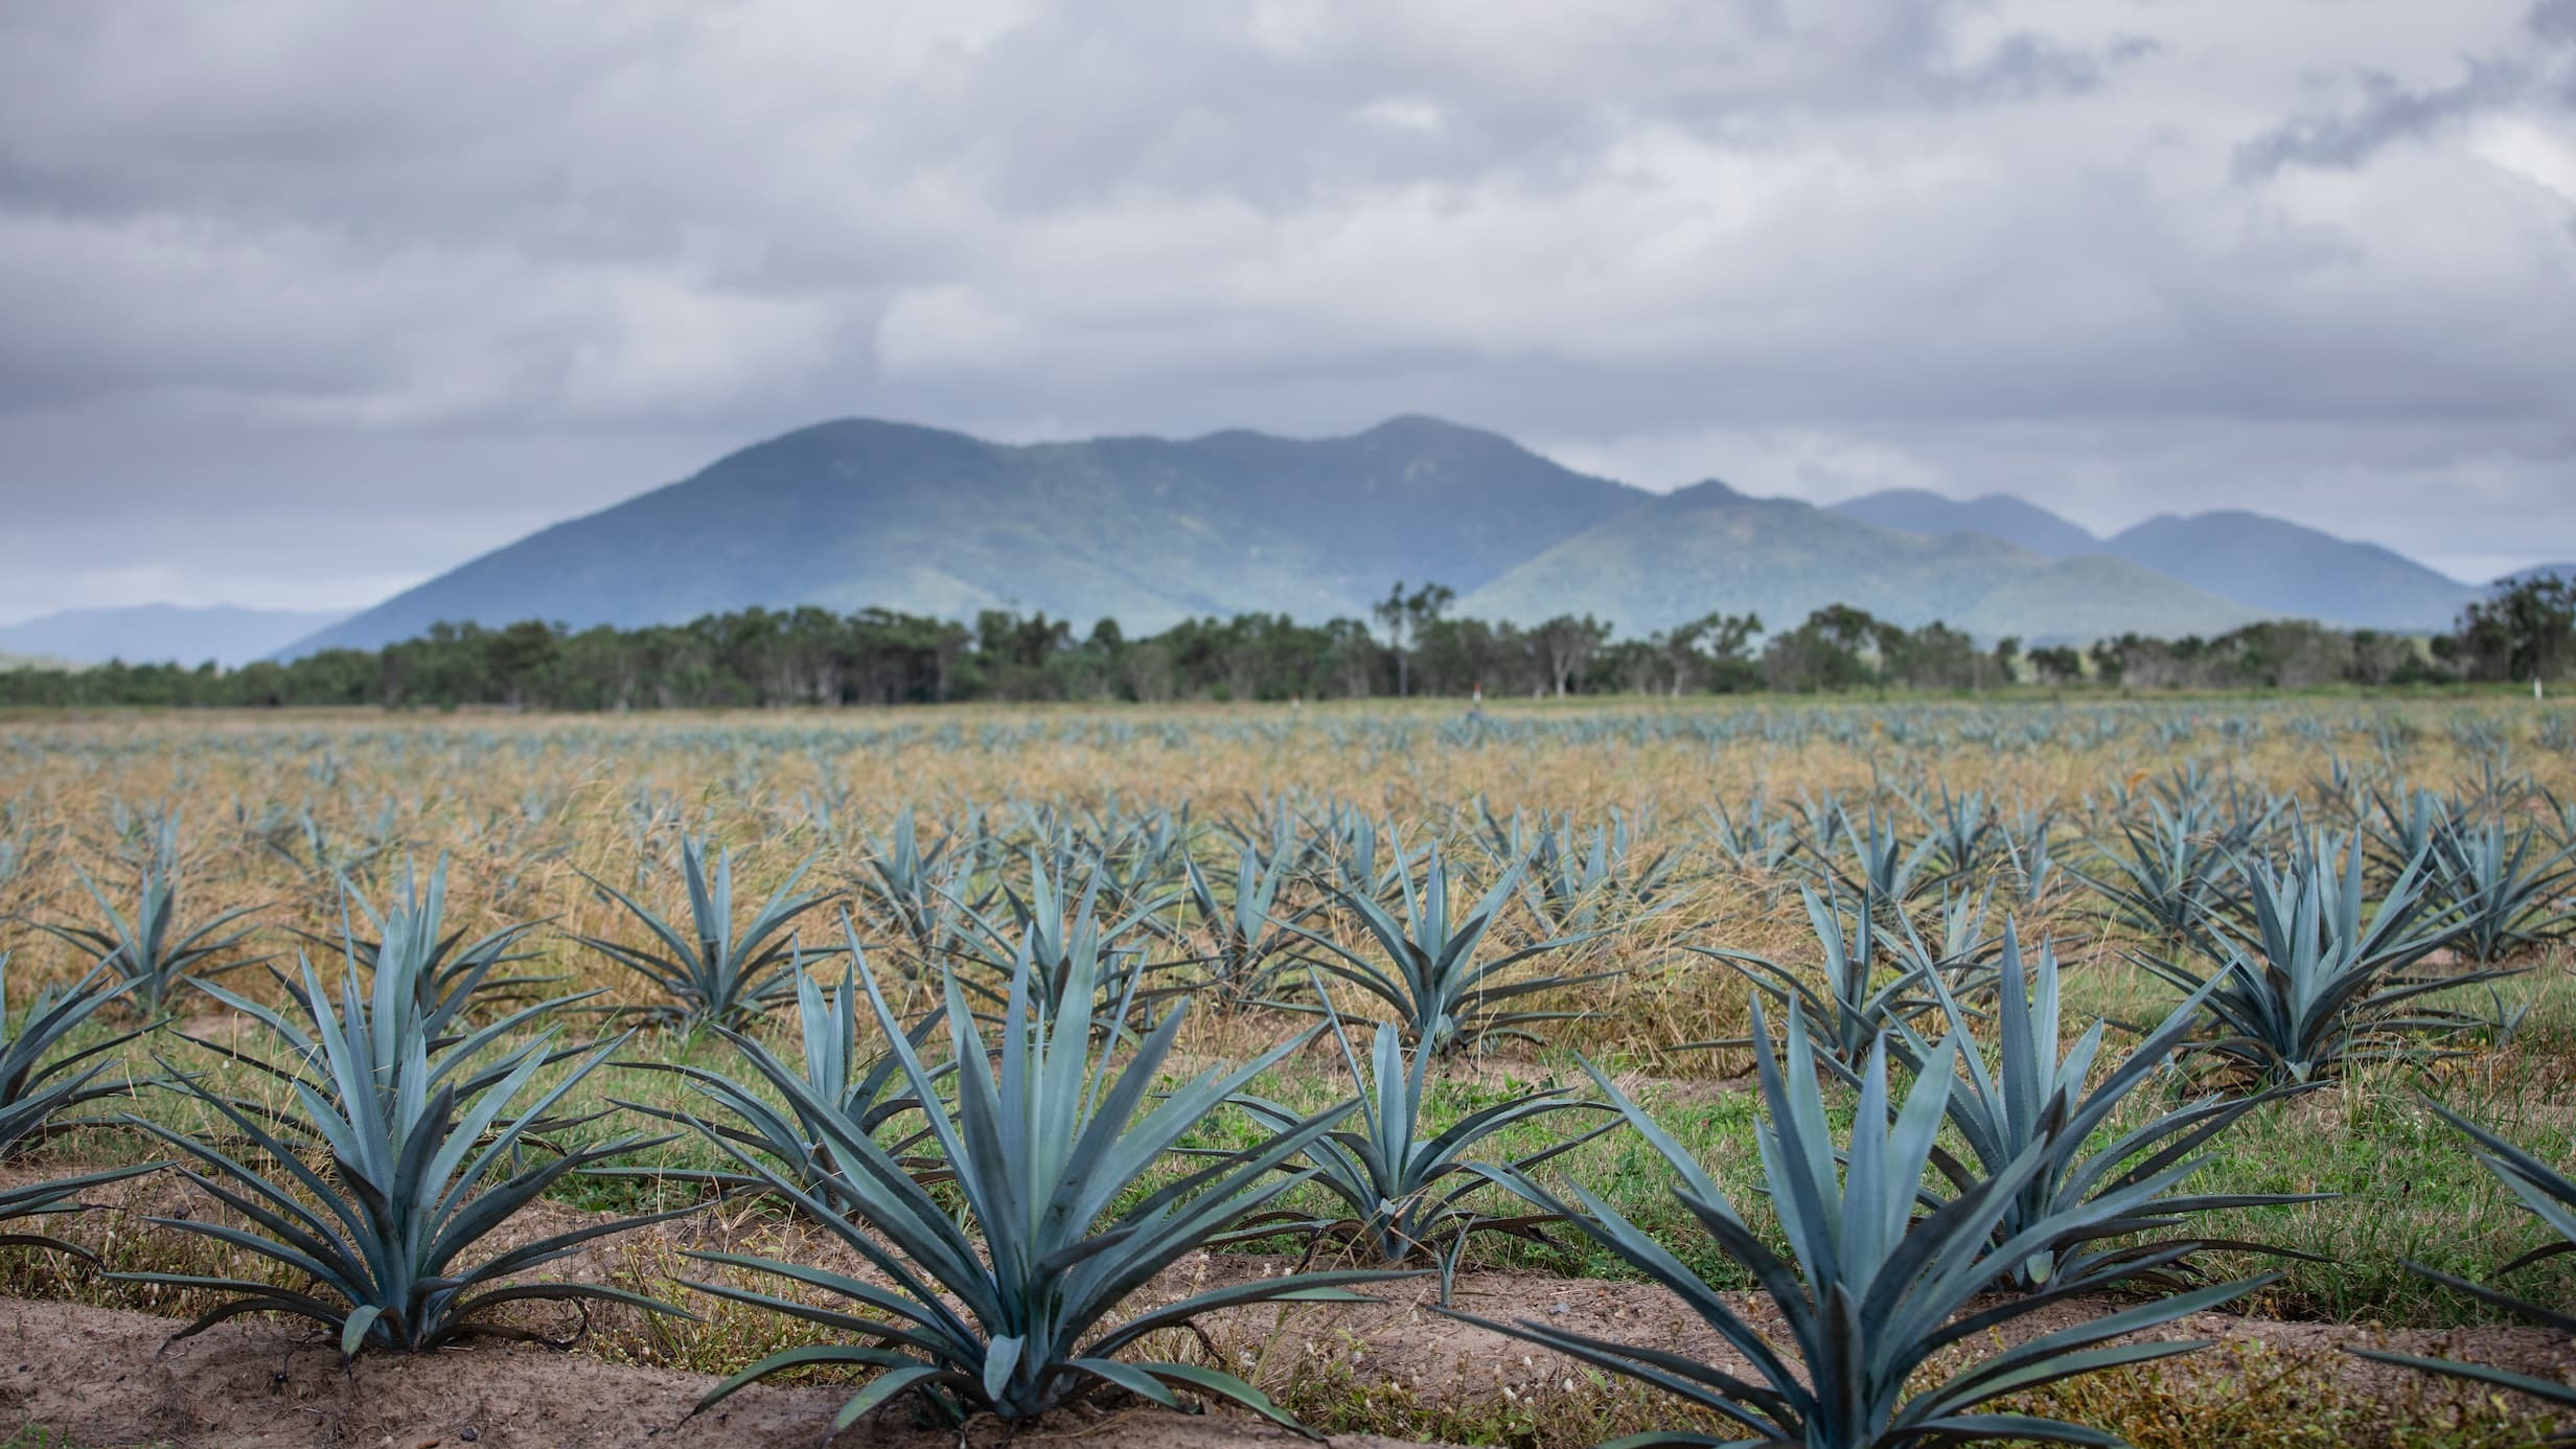
<instances>
[{"instance_id":1,"label":"small agave standing between the two biggest foreground agaves","mask_svg":"<svg viewBox=\"0 0 2576 1449\"><path fill-rule=\"evenodd\" d=\"M1316 985L1316 995L1324 995L1321 985ZM1314 1232L1316 1243L1342 1240L1391 1266L1437 1261L1443 1250L1473 1232L1507 1232L1546 1243L1543 1230L1556 1222L1553 1212L1481 1217L1463 1207L1468 1194L1489 1181L1512 1183L1512 1178L1489 1178L1484 1163L1468 1152L1525 1122L1556 1111L1607 1111L1602 1104L1571 1101L1571 1085L1553 1085L1481 1106L1432 1132L1425 1124L1432 1055L1419 1047L1406 1055L1401 1034L1378 1026L1370 1044L1370 1070L1363 1073L1340 1013L1332 1016L1332 1031L1342 1047L1342 1065L1350 1067L1350 1085L1360 1093L1360 1124L1334 1129L1306 1150L1306 1160L1314 1163L1314 1181L1340 1199L1347 1214L1340 1220L1280 1214L1283 1220ZM1303 1122L1303 1114L1270 1098L1236 1093L1234 1101L1273 1132L1293 1132ZM1615 1114L1589 1132L1512 1158L1507 1165L1515 1173L1535 1168L1613 1127L1618 1127ZM1275 1227L1262 1232L1275 1232Z\"/></svg>"}]
</instances>

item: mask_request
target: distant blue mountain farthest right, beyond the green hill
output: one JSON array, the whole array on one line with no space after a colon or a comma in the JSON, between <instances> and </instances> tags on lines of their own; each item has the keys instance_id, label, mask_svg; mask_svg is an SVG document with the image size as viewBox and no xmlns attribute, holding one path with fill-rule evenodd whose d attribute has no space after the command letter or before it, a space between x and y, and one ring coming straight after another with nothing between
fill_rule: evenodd
<instances>
[{"instance_id":1,"label":"distant blue mountain farthest right, beyond the green hill","mask_svg":"<svg viewBox=\"0 0 2576 1449\"><path fill-rule=\"evenodd\" d=\"M2370 629L2447 629L2476 585L2393 549L2354 544L2264 513L2161 513L2110 536L2107 552L2275 619Z\"/></svg>"}]
</instances>

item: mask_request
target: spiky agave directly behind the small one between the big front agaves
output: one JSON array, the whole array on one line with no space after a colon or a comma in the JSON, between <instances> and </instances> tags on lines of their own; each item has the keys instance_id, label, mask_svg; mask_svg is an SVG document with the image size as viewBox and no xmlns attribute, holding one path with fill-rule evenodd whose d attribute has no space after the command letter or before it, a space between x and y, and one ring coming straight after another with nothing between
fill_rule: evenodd
<instances>
[{"instance_id":1,"label":"spiky agave directly behind the small one between the big front agaves","mask_svg":"<svg viewBox=\"0 0 2576 1449\"><path fill-rule=\"evenodd\" d=\"M1528 1011L1512 1003L1548 990L1566 990L1584 982L1618 977L1618 969L1579 975L1525 975L1499 980L1502 972L1561 951L1589 936L1548 936L1528 946L1481 954L1494 920L1520 890L1522 866L1515 864L1494 879L1484 897L1468 908L1466 918L1450 923L1450 871L1440 848L1430 848L1422 864L1422 884L1412 874L1401 877L1401 902L1394 910L1373 897L1334 890L1334 902L1347 910L1376 946L1373 954L1352 951L1340 941L1319 936L1303 926L1291 931L1321 946L1329 959L1319 962L1332 977L1376 995L1396 1011L1404 1034L1432 1055L1473 1049L1489 1039L1515 1036L1535 1042L1530 1031L1543 1021L1571 1021L1579 1011Z\"/></svg>"}]
</instances>

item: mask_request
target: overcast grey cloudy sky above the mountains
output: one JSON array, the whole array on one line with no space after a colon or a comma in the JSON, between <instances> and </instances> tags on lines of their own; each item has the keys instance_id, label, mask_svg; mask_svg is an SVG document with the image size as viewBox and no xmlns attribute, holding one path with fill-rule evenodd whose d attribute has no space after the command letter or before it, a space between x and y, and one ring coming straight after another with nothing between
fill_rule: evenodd
<instances>
[{"instance_id":1,"label":"overcast grey cloudy sky above the mountains","mask_svg":"<svg viewBox=\"0 0 2576 1449\"><path fill-rule=\"evenodd\" d=\"M1391 413L2576 557L2576 0L0 8L0 619Z\"/></svg>"}]
</instances>

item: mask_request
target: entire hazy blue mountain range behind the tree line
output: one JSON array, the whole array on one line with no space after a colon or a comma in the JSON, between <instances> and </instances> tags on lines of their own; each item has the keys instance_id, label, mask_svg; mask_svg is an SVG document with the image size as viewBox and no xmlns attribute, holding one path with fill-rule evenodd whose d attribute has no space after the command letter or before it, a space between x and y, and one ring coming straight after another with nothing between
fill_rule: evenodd
<instances>
[{"instance_id":1,"label":"entire hazy blue mountain range behind the tree line","mask_svg":"<svg viewBox=\"0 0 2576 1449\"><path fill-rule=\"evenodd\" d=\"M2267 616L2439 629L2478 596L2388 549L2259 513L2161 516L2105 539L2009 495L1893 490L1819 508L1716 480L1649 492L1435 418L1314 441L1079 443L853 418L734 451L361 614L209 652L381 647L469 619L639 627L806 603L1113 616L1128 632L1244 611L1321 621L1365 616L1396 580L1455 588L1461 614L1595 614L1623 634L1708 611L1788 627L1839 601L2025 642L2210 634ZM178 637L167 616L137 624ZM196 639L149 652L191 657ZM62 634L5 629L0 650L98 657Z\"/></svg>"}]
</instances>

